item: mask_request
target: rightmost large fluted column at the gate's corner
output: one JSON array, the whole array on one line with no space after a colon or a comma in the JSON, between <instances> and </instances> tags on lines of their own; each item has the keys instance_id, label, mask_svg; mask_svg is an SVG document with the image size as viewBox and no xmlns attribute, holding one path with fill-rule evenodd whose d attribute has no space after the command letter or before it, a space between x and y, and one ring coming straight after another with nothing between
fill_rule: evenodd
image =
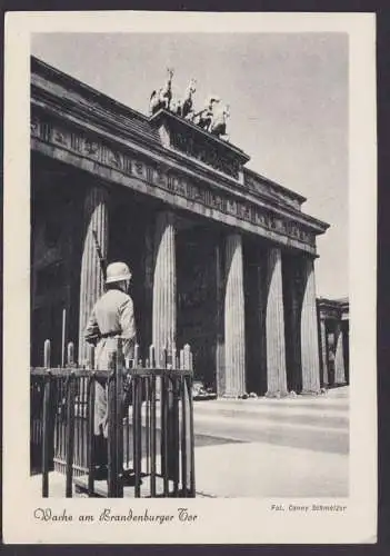
<instances>
[{"instance_id":1,"label":"rightmost large fluted column at the gate's corner","mask_svg":"<svg viewBox=\"0 0 390 556\"><path fill-rule=\"evenodd\" d=\"M302 394L320 391L320 351L316 304L314 261L302 258L303 301L301 310Z\"/></svg>"}]
</instances>

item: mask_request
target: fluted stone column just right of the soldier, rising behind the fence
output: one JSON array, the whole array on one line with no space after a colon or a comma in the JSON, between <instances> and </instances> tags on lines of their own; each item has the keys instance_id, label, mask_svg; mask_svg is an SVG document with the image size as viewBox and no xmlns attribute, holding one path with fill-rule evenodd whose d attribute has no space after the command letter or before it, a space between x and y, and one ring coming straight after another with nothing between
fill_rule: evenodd
<instances>
[{"instance_id":1,"label":"fluted stone column just right of the soldier, rising behind the fence","mask_svg":"<svg viewBox=\"0 0 390 556\"><path fill-rule=\"evenodd\" d=\"M170 348L177 338L177 280L174 249L174 216L163 211L157 215L154 228L154 274L152 340L156 360L161 349Z\"/></svg>"}]
</instances>

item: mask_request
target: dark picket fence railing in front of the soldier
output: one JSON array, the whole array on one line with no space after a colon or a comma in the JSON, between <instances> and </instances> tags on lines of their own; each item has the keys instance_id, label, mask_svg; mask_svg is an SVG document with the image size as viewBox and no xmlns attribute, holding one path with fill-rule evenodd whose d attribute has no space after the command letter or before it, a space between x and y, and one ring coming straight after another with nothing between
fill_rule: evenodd
<instances>
[{"instance_id":1,"label":"dark picket fence railing in front of the soldier","mask_svg":"<svg viewBox=\"0 0 390 556\"><path fill-rule=\"evenodd\" d=\"M49 496L49 473L54 469L64 475L67 497L74 488L88 496L193 497L190 347L179 357L174 347L163 349L157 366L153 346L144 361L136 346L127 368L118 339L110 368L93 368L93 349L89 359L89 368L78 368L70 344L67 366L51 368L47 340L44 366L31 368L31 463L41 467L42 496ZM108 403L107 481L96 477L97 384Z\"/></svg>"}]
</instances>

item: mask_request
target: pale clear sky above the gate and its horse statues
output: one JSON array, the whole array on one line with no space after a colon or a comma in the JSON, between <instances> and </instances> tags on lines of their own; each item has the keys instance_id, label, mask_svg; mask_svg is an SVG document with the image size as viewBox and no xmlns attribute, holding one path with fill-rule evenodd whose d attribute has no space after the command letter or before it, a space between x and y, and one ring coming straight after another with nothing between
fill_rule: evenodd
<instances>
[{"instance_id":1,"label":"pale clear sky above the gate and its horse statues","mask_svg":"<svg viewBox=\"0 0 390 556\"><path fill-rule=\"evenodd\" d=\"M348 296L348 36L346 33L40 33L31 53L148 113L174 69L173 97L197 80L230 106L230 141L247 167L304 197L330 224L318 237L317 295Z\"/></svg>"}]
</instances>

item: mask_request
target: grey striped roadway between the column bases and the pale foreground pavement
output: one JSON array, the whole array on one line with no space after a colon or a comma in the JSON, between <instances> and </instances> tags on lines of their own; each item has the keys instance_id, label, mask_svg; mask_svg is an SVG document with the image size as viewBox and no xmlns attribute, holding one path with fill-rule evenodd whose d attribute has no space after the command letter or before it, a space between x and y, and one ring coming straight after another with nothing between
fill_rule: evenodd
<instances>
[{"instance_id":1,"label":"grey striped roadway between the column bases and the pale foreground pavement","mask_svg":"<svg viewBox=\"0 0 390 556\"><path fill-rule=\"evenodd\" d=\"M197 401L194 430L196 446L260 441L347 455L347 390L323 398Z\"/></svg>"}]
</instances>

